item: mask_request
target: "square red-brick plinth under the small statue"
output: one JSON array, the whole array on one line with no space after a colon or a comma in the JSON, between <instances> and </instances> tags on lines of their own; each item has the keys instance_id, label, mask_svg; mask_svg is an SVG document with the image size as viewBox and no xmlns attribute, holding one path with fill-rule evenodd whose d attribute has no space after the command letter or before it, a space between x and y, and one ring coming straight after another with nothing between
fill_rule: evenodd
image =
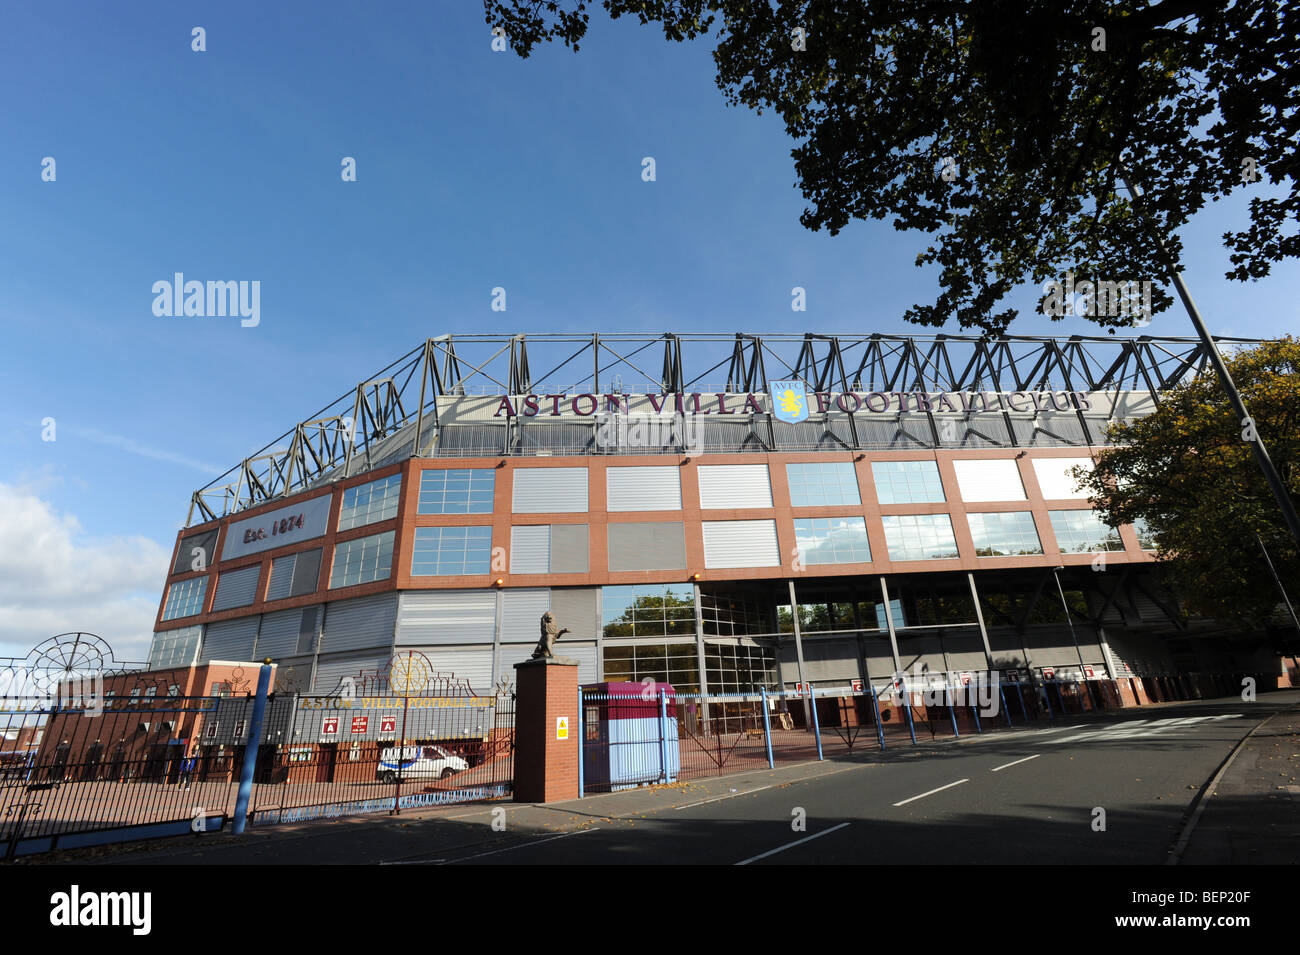
<instances>
[{"instance_id":1,"label":"square red-brick plinth under the small statue","mask_svg":"<svg viewBox=\"0 0 1300 955\"><path fill-rule=\"evenodd\" d=\"M515 802L577 799L577 664L528 660L515 674ZM567 739L556 738L562 717Z\"/></svg>"}]
</instances>

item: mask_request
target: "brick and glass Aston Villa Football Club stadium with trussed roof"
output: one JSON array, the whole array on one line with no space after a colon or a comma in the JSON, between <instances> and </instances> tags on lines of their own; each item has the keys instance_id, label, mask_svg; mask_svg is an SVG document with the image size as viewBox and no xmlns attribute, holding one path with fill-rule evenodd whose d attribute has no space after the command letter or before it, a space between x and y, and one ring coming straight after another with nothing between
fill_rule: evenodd
<instances>
[{"instance_id":1,"label":"brick and glass Aston Villa Football Club stadium with trussed roof","mask_svg":"<svg viewBox=\"0 0 1300 955\"><path fill-rule=\"evenodd\" d=\"M1195 339L432 338L194 494L150 667L270 657L330 694L417 650L485 693L550 609L582 682L1266 686L1275 634L1184 618L1072 474L1206 366Z\"/></svg>"}]
</instances>

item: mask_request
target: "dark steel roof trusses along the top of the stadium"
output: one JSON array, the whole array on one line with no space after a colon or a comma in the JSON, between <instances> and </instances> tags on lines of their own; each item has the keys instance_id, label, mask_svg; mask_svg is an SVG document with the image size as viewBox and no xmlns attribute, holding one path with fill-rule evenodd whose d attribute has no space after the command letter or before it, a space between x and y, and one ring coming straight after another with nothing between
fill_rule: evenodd
<instances>
[{"instance_id":1,"label":"dark steel roof trusses along the top of the stadium","mask_svg":"<svg viewBox=\"0 0 1300 955\"><path fill-rule=\"evenodd\" d=\"M1226 347L1258 344L1216 340ZM439 401L446 407L448 398L758 394L770 381L797 378L812 391L841 394L1141 391L1158 401L1160 392L1201 374L1208 363L1200 339L1145 335L446 334L416 346L195 491L186 524L430 453L439 437ZM545 370L534 374L533 368ZM503 424L503 442L471 443L460 453L529 453L511 443L510 422ZM1080 424L1083 440L1075 443L1092 443ZM1015 443L1010 424L1008 431ZM878 446L859 437L852 421L849 431L828 427L827 435L846 448ZM753 437L753 448L742 440L741 447L716 450L771 450L760 435ZM568 450L581 448L578 440Z\"/></svg>"}]
</instances>

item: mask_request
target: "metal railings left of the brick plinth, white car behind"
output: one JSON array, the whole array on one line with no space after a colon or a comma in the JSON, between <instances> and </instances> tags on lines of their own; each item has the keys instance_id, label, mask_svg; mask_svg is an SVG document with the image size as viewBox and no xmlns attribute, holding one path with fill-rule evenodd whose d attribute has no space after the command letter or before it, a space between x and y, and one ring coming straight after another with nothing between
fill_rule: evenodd
<instances>
[{"instance_id":1,"label":"metal railings left of the brick plinth, white car behind","mask_svg":"<svg viewBox=\"0 0 1300 955\"><path fill-rule=\"evenodd\" d=\"M235 817L256 699L0 698L0 855L216 832ZM514 696L272 694L247 820L493 799L514 791Z\"/></svg>"}]
</instances>

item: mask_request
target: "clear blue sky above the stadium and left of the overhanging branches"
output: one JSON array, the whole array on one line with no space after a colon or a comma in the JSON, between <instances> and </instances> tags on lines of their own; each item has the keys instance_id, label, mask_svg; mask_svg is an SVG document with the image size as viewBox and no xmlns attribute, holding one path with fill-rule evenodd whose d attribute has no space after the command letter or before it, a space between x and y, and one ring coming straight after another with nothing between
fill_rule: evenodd
<instances>
[{"instance_id":1,"label":"clear blue sky above the stadium and left of the overhanging branches","mask_svg":"<svg viewBox=\"0 0 1300 955\"><path fill-rule=\"evenodd\" d=\"M39 565L0 591L0 654L42 628L147 635L190 492L428 335L901 333L932 300L924 236L800 226L792 143L724 105L708 44L599 16L577 55L490 39L473 0L0 8L0 542ZM1219 334L1294 333L1300 269L1222 278L1244 208L1187 230L1192 291ZM176 272L260 281L260 325L156 317ZM1191 334L1178 308L1145 331ZM66 573L49 550L120 565L108 603L36 579Z\"/></svg>"}]
</instances>

